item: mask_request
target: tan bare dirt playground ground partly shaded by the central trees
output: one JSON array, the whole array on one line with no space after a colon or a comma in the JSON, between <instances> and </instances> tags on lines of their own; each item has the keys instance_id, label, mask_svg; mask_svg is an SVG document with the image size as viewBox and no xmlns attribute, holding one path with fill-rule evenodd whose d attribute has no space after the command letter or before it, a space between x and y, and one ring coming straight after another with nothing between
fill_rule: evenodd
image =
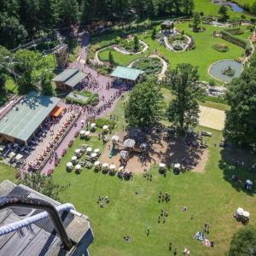
<instances>
[{"instance_id":1,"label":"tan bare dirt playground ground partly shaded by the central trees","mask_svg":"<svg viewBox=\"0 0 256 256\"><path fill-rule=\"evenodd\" d=\"M121 143L127 138L125 132L119 132L116 135L119 136ZM139 153L131 152L131 157L126 165L126 168L130 169L131 172L143 173L144 169L149 170L150 166L160 164L160 162L166 163L167 166L171 166L175 163L182 163L186 170L193 172L205 171L209 156L208 149L189 147L181 139L166 139L162 134L150 134L146 141L149 147L148 156L144 162L141 161ZM109 158L111 149L112 142L109 141L107 148L102 152L101 162L120 166L120 150L117 149L113 157Z\"/></svg>"}]
</instances>

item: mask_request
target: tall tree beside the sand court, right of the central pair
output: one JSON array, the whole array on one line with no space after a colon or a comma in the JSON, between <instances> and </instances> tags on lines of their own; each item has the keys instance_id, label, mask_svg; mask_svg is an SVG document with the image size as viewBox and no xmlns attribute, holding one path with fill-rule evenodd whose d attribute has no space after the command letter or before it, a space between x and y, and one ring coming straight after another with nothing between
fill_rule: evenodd
<instances>
[{"instance_id":1,"label":"tall tree beside the sand court, right of the central pair","mask_svg":"<svg viewBox=\"0 0 256 256\"><path fill-rule=\"evenodd\" d=\"M205 96L205 90L198 83L198 79L197 67L186 63L178 64L176 68L166 73L166 86L175 96L166 110L166 117L181 131L198 124L200 112L198 100L202 100Z\"/></svg>"}]
</instances>

